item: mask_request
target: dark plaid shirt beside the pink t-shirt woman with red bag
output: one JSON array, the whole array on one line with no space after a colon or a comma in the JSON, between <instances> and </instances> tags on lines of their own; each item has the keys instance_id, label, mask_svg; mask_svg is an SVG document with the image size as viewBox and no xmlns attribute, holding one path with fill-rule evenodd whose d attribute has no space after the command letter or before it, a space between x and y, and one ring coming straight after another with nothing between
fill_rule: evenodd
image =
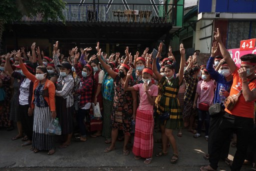
<instances>
[{"instance_id":1,"label":"dark plaid shirt beside the pink t-shirt woman with red bag","mask_svg":"<svg viewBox=\"0 0 256 171\"><path fill-rule=\"evenodd\" d=\"M198 79L193 78L191 75L189 75L187 70L184 71L184 79L185 79L185 83L186 83L184 102L188 102L189 100L193 100L193 98L194 98Z\"/></svg>"}]
</instances>

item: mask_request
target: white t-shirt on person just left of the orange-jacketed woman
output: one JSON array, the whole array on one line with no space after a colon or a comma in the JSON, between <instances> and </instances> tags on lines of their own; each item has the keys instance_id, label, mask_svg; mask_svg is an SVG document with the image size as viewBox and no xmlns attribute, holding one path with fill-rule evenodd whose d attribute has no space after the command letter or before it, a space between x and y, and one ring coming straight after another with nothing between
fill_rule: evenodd
<instances>
[{"instance_id":1,"label":"white t-shirt on person just left of the orange-jacketed woman","mask_svg":"<svg viewBox=\"0 0 256 171\"><path fill-rule=\"evenodd\" d=\"M26 105L28 104L28 95L29 95L29 84L30 84L30 79L25 78L19 87L19 96L18 96L18 101L20 105Z\"/></svg>"}]
</instances>

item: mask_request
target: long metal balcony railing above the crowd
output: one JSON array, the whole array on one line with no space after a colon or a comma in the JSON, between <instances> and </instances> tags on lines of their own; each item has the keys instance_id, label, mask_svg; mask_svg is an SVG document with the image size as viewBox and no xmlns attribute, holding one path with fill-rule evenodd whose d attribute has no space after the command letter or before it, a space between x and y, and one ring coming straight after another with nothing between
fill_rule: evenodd
<instances>
[{"instance_id":1,"label":"long metal balcony railing above the crowd","mask_svg":"<svg viewBox=\"0 0 256 171\"><path fill-rule=\"evenodd\" d=\"M165 23L175 25L180 4L67 3L63 14L66 22ZM22 18L39 22L40 14ZM50 21L50 19L49 19Z\"/></svg>"}]
</instances>

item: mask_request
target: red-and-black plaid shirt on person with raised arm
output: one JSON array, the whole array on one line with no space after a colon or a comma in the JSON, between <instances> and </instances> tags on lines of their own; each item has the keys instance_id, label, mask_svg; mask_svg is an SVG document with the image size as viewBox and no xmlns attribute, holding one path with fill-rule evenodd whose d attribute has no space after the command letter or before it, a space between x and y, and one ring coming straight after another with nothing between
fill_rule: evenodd
<instances>
[{"instance_id":1,"label":"red-and-black plaid shirt on person with raised arm","mask_svg":"<svg viewBox=\"0 0 256 171\"><path fill-rule=\"evenodd\" d=\"M74 65L76 74L81 78L80 87L75 92L80 94L79 107L83 107L87 102L91 102L93 80L91 76L83 77L77 64Z\"/></svg>"}]
</instances>

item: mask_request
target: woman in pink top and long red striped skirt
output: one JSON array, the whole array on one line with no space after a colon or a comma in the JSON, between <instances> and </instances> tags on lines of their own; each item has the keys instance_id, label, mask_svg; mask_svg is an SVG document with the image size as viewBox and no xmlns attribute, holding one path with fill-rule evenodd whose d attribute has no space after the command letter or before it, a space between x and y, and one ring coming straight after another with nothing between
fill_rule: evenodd
<instances>
[{"instance_id":1,"label":"woman in pink top and long red striped skirt","mask_svg":"<svg viewBox=\"0 0 256 171\"><path fill-rule=\"evenodd\" d=\"M142 70L142 80L144 83L135 84L128 87L128 80L131 76L132 68L128 71L124 83L125 91L139 91L140 102L136 111L135 135L132 152L135 159L146 158L145 164L149 164L153 153L153 104L158 93L158 87L151 82L153 71L149 68Z\"/></svg>"}]
</instances>

